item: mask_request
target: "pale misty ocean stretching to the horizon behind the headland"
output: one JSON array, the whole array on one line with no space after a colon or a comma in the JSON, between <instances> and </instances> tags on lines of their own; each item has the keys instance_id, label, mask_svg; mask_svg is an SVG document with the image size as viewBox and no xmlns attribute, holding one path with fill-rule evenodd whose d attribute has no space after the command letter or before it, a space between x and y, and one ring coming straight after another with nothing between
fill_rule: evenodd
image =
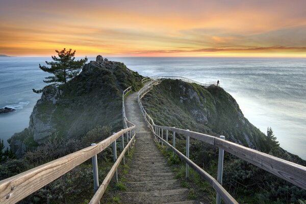
<instances>
[{"instance_id":1,"label":"pale misty ocean stretching to the horizon behind the headland","mask_svg":"<svg viewBox=\"0 0 306 204\"><path fill-rule=\"evenodd\" d=\"M181 76L201 83L220 81L244 116L262 132L272 127L281 147L306 159L305 58L120 58L144 76ZM0 138L29 125L48 74L38 64L50 58L0 58L0 107L16 109L0 115ZM95 60L95 58L89 58Z\"/></svg>"}]
</instances>

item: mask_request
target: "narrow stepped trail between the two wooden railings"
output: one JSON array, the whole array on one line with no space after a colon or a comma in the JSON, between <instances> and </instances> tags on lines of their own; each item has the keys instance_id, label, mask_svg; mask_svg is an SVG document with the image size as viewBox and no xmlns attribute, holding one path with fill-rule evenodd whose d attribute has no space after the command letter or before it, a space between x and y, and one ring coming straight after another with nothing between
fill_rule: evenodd
<instances>
[{"instance_id":1,"label":"narrow stepped trail between the two wooden railings","mask_svg":"<svg viewBox=\"0 0 306 204\"><path fill-rule=\"evenodd\" d=\"M126 117L136 124L136 142L129 174L125 183L127 191L120 193L123 203L196 203L188 199L187 188L180 180L158 149L140 111L137 92L125 98Z\"/></svg>"}]
</instances>

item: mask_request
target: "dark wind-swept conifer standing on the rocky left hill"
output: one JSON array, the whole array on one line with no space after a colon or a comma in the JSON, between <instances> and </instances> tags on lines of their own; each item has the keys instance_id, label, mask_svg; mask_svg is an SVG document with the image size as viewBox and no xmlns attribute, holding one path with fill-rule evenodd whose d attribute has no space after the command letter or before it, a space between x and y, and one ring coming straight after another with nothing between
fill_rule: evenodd
<instances>
[{"instance_id":1,"label":"dark wind-swept conifer standing on the rocky left hill","mask_svg":"<svg viewBox=\"0 0 306 204\"><path fill-rule=\"evenodd\" d=\"M81 60L75 60L75 50L72 52L72 49L66 50L64 48L61 51L55 50L57 52L57 56L51 56L54 62L47 62L47 67L45 65L41 66L39 64L39 68L48 73L54 74L54 76L46 77L46 80L43 80L45 83L53 83L53 85L58 86L59 84L66 84L67 81L74 78L76 75L80 73L81 68L87 62L87 58ZM33 91L35 93L41 93L43 89Z\"/></svg>"}]
</instances>

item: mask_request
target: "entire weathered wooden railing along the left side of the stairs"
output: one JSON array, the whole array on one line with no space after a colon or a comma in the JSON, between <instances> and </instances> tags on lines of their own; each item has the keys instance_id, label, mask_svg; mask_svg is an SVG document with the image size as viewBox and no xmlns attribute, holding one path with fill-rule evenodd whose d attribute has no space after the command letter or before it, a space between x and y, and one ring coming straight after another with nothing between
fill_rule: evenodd
<instances>
[{"instance_id":1,"label":"entire weathered wooden railing along the left side of the stairs","mask_svg":"<svg viewBox=\"0 0 306 204\"><path fill-rule=\"evenodd\" d=\"M114 165L107 174L103 183L96 190L90 203L99 203L99 200L103 196L108 184L110 183L113 175L117 173L117 167L121 160L124 158L126 151L132 145L135 138L135 127L136 125L127 120L124 109L124 95L131 91L131 87L123 91L122 94L122 117L124 130L114 133L107 139L86 147L79 151L73 152L65 157L59 158L52 162L43 164L36 168L30 169L18 175L9 177L8 179L0 181L0 203L16 203L21 199L27 197L33 192L39 190L45 185L58 179L58 177L67 173L74 167L82 164L90 158L96 157L99 152L105 150L108 146L113 144L114 155L116 155L116 141L121 138L122 140L122 151L120 156L114 158ZM124 135L126 135L126 146L124 147ZM97 168L97 167L96 167ZM94 178L95 180L95 178ZM98 181L97 181L98 183Z\"/></svg>"}]
</instances>

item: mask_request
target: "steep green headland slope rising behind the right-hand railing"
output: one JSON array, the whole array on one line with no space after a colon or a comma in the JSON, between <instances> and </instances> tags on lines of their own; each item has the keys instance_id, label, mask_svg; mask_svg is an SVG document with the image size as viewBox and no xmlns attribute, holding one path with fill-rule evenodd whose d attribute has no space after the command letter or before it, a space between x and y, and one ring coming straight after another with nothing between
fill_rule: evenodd
<instances>
[{"instance_id":1,"label":"steep green headland slope rising behind the right-hand railing","mask_svg":"<svg viewBox=\"0 0 306 204\"><path fill-rule=\"evenodd\" d=\"M221 87L164 80L145 95L143 105L159 125L224 135L244 146L265 149L264 134L243 116L236 100Z\"/></svg>"}]
</instances>

